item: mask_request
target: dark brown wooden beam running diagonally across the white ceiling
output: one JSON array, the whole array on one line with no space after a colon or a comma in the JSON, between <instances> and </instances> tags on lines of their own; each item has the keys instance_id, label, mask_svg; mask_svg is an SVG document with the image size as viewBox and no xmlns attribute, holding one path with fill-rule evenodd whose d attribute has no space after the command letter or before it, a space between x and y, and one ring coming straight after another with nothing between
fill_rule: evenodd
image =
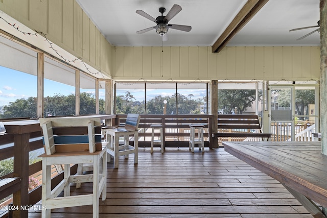
<instances>
[{"instance_id":1,"label":"dark brown wooden beam running diagonally across the white ceiling","mask_svg":"<svg viewBox=\"0 0 327 218\"><path fill-rule=\"evenodd\" d=\"M230 22L226 30L213 44L213 52L220 52L228 41L235 36L267 2L268 0L248 0L240 12Z\"/></svg>"}]
</instances>

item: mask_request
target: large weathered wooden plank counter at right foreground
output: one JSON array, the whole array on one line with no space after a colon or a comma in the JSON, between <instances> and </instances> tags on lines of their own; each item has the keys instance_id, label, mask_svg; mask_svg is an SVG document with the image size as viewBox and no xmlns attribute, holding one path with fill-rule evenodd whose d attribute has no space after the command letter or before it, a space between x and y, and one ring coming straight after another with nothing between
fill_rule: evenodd
<instances>
[{"instance_id":1,"label":"large weathered wooden plank counter at right foreground","mask_svg":"<svg viewBox=\"0 0 327 218\"><path fill-rule=\"evenodd\" d=\"M325 217L314 203L327 207L327 156L321 154L320 141L223 145L226 152L281 182L314 217Z\"/></svg>"}]
</instances>

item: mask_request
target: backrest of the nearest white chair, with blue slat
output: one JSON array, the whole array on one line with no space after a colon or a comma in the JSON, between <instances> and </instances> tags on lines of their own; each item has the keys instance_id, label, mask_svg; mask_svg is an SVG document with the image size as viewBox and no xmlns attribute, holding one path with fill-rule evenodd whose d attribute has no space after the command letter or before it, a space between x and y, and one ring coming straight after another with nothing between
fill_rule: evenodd
<instances>
[{"instance_id":1,"label":"backrest of the nearest white chair, with blue slat","mask_svg":"<svg viewBox=\"0 0 327 218\"><path fill-rule=\"evenodd\" d=\"M46 155L101 151L101 120L90 117L40 118ZM95 128L98 126L99 128ZM98 134L96 134L96 129Z\"/></svg>"}]
</instances>

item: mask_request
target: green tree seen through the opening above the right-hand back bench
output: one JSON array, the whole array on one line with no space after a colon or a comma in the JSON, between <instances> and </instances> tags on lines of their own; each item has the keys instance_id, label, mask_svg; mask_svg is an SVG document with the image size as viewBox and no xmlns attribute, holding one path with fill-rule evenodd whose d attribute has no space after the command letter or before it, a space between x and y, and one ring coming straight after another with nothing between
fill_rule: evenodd
<instances>
[{"instance_id":1,"label":"green tree seen through the opening above the right-hand back bench","mask_svg":"<svg viewBox=\"0 0 327 218\"><path fill-rule=\"evenodd\" d=\"M218 91L218 108L230 114L235 108L242 114L247 108L252 107L255 101L254 89L220 89Z\"/></svg>"}]
</instances>

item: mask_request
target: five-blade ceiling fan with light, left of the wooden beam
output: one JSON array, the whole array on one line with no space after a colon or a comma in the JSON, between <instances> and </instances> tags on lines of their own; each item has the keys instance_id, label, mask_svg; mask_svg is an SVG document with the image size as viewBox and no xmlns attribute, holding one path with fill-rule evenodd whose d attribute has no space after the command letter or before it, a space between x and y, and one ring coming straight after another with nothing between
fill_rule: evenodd
<instances>
[{"instance_id":1,"label":"five-blade ceiling fan with light, left of the wooden beam","mask_svg":"<svg viewBox=\"0 0 327 218\"><path fill-rule=\"evenodd\" d=\"M170 11L167 13L166 16L164 16L163 14L166 12L166 8L159 8L159 12L161 13L161 16L158 16L157 18L154 18L152 16L150 16L149 14L145 13L142 10L136 10L136 13L144 16L145 18L148 18L149 20L157 23L156 26L153 27L149 27L147 29L144 30L139 30L136 33L137 34L142 34L142 33L146 33L150 30L155 29L156 33L159 34L160 36L162 36L162 41L167 41L167 31L168 29L175 29L175 30L181 30L181 31L185 31L185 32L190 32L192 27L191 26L184 26L184 25L176 25L176 24L168 24L168 22L174 17L176 16L176 14L178 14L180 11L182 10L182 8L179 5L173 5L173 7L170 9Z\"/></svg>"}]
</instances>

